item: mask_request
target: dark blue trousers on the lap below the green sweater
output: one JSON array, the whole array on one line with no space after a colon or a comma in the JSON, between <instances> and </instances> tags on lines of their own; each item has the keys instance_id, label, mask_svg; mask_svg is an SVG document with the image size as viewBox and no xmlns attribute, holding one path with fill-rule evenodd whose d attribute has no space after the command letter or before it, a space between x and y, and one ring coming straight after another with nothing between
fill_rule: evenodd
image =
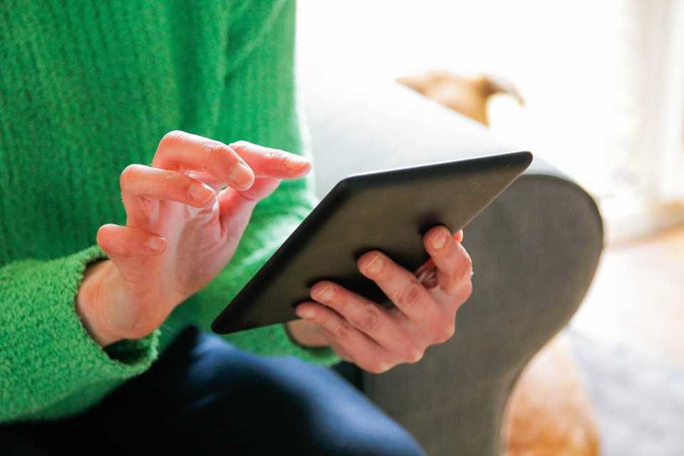
<instances>
[{"instance_id":1,"label":"dark blue trousers on the lap below the green sweater","mask_svg":"<svg viewBox=\"0 0 684 456\"><path fill-rule=\"evenodd\" d=\"M0 448L4 455L425 454L331 369L254 356L195 328L86 413L0 426Z\"/></svg>"}]
</instances>

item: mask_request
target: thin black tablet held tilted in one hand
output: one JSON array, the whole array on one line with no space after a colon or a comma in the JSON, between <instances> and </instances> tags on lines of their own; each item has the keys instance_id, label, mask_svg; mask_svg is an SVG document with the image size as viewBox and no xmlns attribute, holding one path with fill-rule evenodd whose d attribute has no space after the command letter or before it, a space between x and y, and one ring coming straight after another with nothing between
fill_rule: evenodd
<instances>
[{"instance_id":1,"label":"thin black tablet held tilted in one hand","mask_svg":"<svg viewBox=\"0 0 684 456\"><path fill-rule=\"evenodd\" d=\"M530 152L364 172L345 177L309 213L212 323L233 333L299 318L309 288L328 279L393 305L356 261L378 249L415 271L430 256L428 229L465 227L532 162Z\"/></svg>"}]
</instances>

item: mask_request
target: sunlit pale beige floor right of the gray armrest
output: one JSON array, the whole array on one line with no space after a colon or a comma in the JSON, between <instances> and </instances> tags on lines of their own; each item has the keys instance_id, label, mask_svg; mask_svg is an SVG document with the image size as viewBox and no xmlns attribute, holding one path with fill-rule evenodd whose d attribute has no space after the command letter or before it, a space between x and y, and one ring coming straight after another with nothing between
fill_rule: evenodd
<instances>
[{"instance_id":1,"label":"sunlit pale beige floor right of the gray armrest","mask_svg":"<svg viewBox=\"0 0 684 456\"><path fill-rule=\"evenodd\" d=\"M608 246L571 326L684 368L684 227Z\"/></svg>"}]
</instances>

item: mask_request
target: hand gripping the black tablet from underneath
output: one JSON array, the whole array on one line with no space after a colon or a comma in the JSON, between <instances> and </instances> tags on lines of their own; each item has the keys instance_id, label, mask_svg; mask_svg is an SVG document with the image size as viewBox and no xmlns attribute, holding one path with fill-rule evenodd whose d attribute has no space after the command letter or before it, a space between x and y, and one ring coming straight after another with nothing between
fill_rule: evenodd
<instances>
[{"instance_id":1,"label":"hand gripping the black tablet from underneath","mask_svg":"<svg viewBox=\"0 0 684 456\"><path fill-rule=\"evenodd\" d=\"M423 237L430 259L415 272L382 252L366 252L358 269L395 308L319 281L310 290L315 301L296 308L303 319L286 323L290 336L302 346L330 346L343 360L372 373L420 361L428 346L453 335L456 312L472 293L472 262L462 239L462 231L430 229Z\"/></svg>"}]
</instances>

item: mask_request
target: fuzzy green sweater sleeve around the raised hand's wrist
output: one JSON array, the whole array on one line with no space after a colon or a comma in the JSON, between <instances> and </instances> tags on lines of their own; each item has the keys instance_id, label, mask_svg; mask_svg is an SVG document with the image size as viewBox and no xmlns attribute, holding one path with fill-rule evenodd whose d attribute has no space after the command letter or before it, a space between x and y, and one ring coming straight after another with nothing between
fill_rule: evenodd
<instances>
[{"instance_id":1,"label":"fuzzy green sweater sleeve around the raised hand's wrist","mask_svg":"<svg viewBox=\"0 0 684 456\"><path fill-rule=\"evenodd\" d=\"M125 380L157 356L158 332L101 348L76 312L76 294L98 245L0 268L0 423L41 415L89 385Z\"/></svg>"}]
</instances>

